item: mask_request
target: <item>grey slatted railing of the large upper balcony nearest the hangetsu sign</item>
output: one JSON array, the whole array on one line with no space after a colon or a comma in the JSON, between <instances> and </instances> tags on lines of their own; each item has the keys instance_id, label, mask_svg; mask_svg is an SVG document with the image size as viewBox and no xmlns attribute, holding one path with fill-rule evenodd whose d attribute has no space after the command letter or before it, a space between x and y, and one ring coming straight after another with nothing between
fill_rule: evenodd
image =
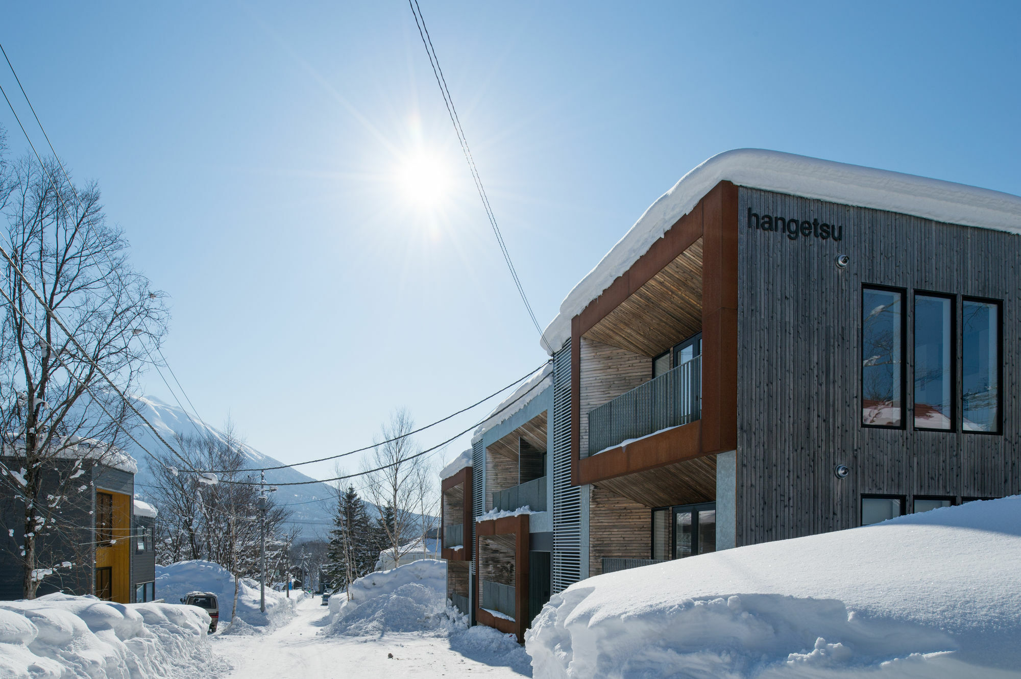
<instances>
[{"instance_id":1,"label":"grey slatted railing of the large upper balcony nearest the hangetsu sign","mask_svg":"<svg viewBox=\"0 0 1021 679\"><path fill-rule=\"evenodd\" d=\"M701 416L701 357L627 391L588 414L588 455Z\"/></svg>"}]
</instances>

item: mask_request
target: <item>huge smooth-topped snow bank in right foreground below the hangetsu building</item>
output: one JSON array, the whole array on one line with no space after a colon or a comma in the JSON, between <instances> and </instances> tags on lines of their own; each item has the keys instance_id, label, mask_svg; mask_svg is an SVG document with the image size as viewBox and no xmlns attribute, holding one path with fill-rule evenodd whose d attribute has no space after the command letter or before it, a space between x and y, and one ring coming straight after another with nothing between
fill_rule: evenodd
<instances>
[{"instance_id":1,"label":"huge smooth-topped snow bank in right foreground below the hangetsu building","mask_svg":"<svg viewBox=\"0 0 1021 679\"><path fill-rule=\"evenodd\" d=\"M578 582L536 677L1021 677L1021 497Z\"/></svg>"}]
</instances>

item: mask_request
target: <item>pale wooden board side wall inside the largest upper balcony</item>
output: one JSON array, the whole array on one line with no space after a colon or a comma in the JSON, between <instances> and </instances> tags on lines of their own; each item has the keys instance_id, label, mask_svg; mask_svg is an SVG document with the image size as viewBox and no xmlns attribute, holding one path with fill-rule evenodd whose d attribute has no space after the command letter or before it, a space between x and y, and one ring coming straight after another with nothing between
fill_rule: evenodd
<instances>
[{"instance_id":1,"label":"pale wooden board side wall inside the largest upper balcony","mask_svg":"<svg viewBox=\"0 0 1021 679\"><path fill-rule=\"evenodd\" d=\"M588 457L588 413L652 378L647 356L582 337L581 454Z\"/></svg>"}]
</instances>

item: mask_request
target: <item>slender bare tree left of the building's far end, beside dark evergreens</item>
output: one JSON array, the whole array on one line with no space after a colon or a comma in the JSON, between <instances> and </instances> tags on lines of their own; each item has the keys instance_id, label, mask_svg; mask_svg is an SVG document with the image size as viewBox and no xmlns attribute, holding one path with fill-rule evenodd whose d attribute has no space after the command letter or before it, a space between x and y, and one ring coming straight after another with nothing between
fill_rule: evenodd
<instances>
[{"instance_id":1,"label":"slender bare tree left of the building's far end, beside dark evergreens","mask_svg":"<svg viewBox=\"0 0 1021 679\"><path fill-rule=\"evenodd\" d=\"M414 430L410 413L404 408L395 410L381 427L384 442L377 445L363 463L363 492L380 510L387 551L394 564L412 549L406 541L415 536L417 528L418 470L425 464L425 457L419 455L421 449L408 435Z\"/></svg>"}]
</instances>

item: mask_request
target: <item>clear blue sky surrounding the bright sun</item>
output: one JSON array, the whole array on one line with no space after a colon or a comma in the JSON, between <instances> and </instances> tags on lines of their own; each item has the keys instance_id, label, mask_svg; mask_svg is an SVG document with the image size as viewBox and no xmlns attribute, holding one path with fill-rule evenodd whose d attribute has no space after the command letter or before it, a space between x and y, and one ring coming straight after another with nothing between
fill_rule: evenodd
<instances>
[{"instance_id":1,"label":"clear blue sky surrounding the bright sun","mask_svg":"<svg viewBox=\"0 0 1021 679\"><path fill-rule=\"evenodd\" d=\"M543 325L653 200L727 149L1021 194L1013 3L420 2ZM133 263L169 294L163 351L203 419L299 461L370 442L396 406L425 423L544 360L406 3L21 3L0 41L58 153L99 181ZM15 91L9 72L0 84ZM23 152L8 110L0 123ZM396 180L417 153L448 168L439 209ZM158 375L144 386L171 400Z\"/></svg>"}]
</instances>

